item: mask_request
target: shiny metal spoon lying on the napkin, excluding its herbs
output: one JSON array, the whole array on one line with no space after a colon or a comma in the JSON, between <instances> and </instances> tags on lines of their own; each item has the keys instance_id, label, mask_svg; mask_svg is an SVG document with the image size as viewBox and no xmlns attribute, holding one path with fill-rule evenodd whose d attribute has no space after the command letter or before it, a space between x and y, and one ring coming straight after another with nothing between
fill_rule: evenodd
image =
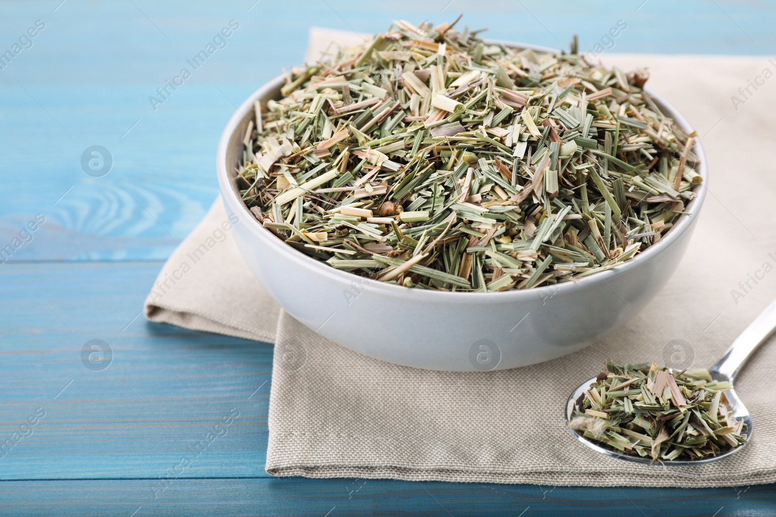
<instances>
[{"instance_id":1,"label":"shiny metal spoon lying on the napkin, excluding its herbs","mask_svg":"<svg viewBox=\"0 0 776 517\"><path fill-rule=\"evenodd\" d=\"M743 367L743 365L747 362L747 359L749 359L754 350L757 349L757 346L760 346L760 344L763 343L768 338L768 336L771 336L771 333L773 333L774 330L776 330L776 302L772 302L771 305L768 305L768 307L759 316L757 316L757 319L750 323L750 326L748 326L747 329L745 329L743 333L741 333L741 335L738 336L735 341L733 341L733 345L731 345L725 355L722 356L722 359L720 359L717 364L708 370L708 374L710 374L712 379L715 381L729 381L731 384L733 384L733 381L736 379L736 375L741 370L741 367ZM571 421L575 406L577 404L577 399L580 398L580 395L584 395L584 393L590 389L590 385L596 381L596 378L597 377L593 377L589 381L584 381L571 393L568 402L566 402L567 422ZM735 384L733 385L735 386ZM746 424L743 435L747 439L748 443L752 438L752 417L750 416L747 408L743 405L743 402L741 402L740 398L738 398L738 395L736 395L736 391L734 389L725 391L725 396L730 402L728 409L733 413L733 417L736 420L743 420ZM703 458L702 460L653 461L649 457L632 456L630 454L621 453L618 450L607 449L604 446L598 445L598 443L592 442L584 436L577 434L573 430L571 433L573 433L573 436L575 436L580 442L584 443L592 450L597 450L599 453L606 454L607 456L613 458L634 461L640 464L709 464L714 461L723 460L726 457L729 457L731 454L737 453L743 448L744 445L746 445L746 443L744 443L743 445L737 446L734 449L728 450L724 454L720 454L719 456L711 458Z\"/></svg>"}]
</instances>

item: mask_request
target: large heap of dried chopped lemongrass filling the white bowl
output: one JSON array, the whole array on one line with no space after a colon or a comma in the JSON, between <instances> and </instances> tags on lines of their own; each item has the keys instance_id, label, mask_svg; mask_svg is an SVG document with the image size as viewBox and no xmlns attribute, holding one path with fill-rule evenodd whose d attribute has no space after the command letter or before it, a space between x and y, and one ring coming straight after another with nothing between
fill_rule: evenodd
<instances>
[{"instance_id":1,"label":"large heap of dried chopped lemongrass filling the white bowl","mask_svg":"<svg viewBox=\"0 0 776 517\"><path fill-rule=\"evenodd\" d=\"M660 240L693 135L577 53L397 21L255 104L237 185L265 228L363 277L442 291L576 280Z\"/></svg>"}]
</instances>

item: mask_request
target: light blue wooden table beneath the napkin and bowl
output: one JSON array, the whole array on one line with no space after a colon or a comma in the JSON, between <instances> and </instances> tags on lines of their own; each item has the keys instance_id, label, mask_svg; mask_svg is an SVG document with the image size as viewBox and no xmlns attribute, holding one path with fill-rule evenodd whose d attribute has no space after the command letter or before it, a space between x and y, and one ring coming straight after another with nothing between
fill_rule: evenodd
<instances>
[{"instance_id":1,"label":"light blue wooden table beneath the napkin and bowl","mask_svg":"<svg viewBox=\"0 0 776 517\"><path fill-rule=\"evenodd\" d=\"M223 125L300 60L310 26L374 32L459 12L491 37L551 47L579 33L592 50L622 19L616 52L776 49L771 2L0 3L0 53L19 44L0 55L0 249L12 246L0 264L0 443L14 443L0 450L0 515L776 515L774 485L275 479L264 471L272 345L139 315L161 264L217 195ZM149 97L231 19L239 28L226 47L154 110ZM27 33L36 22L43 29ZM81 167L94 145L113 160L102 177ZM45 222L20 235L36 216ZM92 339L112 350L106 370L81 360ZM227 435L158 491L233 408Z\"/></svg>"}]
</instances>

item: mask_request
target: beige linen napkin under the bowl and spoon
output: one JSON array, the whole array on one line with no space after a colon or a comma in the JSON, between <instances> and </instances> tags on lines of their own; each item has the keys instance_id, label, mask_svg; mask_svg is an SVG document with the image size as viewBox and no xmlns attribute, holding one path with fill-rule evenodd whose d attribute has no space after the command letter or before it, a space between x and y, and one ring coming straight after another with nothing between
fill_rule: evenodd
<instances>
[{"instance_id":1,"label":"beige linen napkin under the bowl and spoon","mask_svg":"<svg viewBox=\"0 0 776 517\"><path fill-rule=\"evenodd\" d=\"M629 324L586 350L473 373L418 370L346 350L277 308L225 229L220 200L175 251L147 299L149 319L275 342L268 473L547 485L776 481L773 342L740 374L736 391L752 414L754 434L728 460L670 469L631 464L588 450L566 428L567 396L605 359L663 362L664 353L674 352L670 341L684 339L694 366L709 367L776 298L776 82L750 88L746 99L738 92L776 65L765 57L601 58L650 67L653 88L698 130L712 181L673 280ZM744 101L737 110L731 95Z\"/></svg>"}]
</instances>

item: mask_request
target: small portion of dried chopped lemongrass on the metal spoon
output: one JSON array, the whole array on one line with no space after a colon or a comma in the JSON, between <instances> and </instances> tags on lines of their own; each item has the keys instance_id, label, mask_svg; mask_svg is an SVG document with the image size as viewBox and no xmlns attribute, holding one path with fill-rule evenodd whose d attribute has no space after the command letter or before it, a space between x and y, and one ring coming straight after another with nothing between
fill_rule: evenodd
<instances>
[{"instance_id":1,"label":"small portion of dried chopped lemongrass on the metal spoon","mask_svg":"<svg viewBox=\"0 0 776 517\"><path fill-rule=\"evenodd\" d=\"M609 361L577 400L572 429L621 453L658 460L702 460L747 443L729 411L729 382L706 370Z\"/></svg>"}]
</instances>

